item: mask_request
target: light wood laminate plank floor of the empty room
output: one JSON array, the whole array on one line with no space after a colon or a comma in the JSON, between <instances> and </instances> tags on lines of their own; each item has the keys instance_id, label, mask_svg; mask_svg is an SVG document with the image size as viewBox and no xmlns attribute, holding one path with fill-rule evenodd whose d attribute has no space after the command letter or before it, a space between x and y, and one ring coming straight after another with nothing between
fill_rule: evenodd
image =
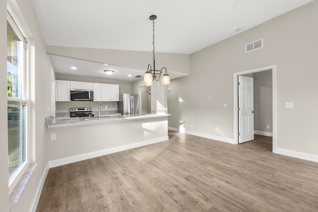
<instances>
[{"instance_id":1,"label":"light wood laminate plank floor of the empty room","mask_svg":"<svg viewBox=\"0 0 318 212\"><path fill-rule=\"evenodd\" d=\"M37 212L317 212L318 163L169 131L169 141L48 172Z\"/></svg>"}]
</instances>

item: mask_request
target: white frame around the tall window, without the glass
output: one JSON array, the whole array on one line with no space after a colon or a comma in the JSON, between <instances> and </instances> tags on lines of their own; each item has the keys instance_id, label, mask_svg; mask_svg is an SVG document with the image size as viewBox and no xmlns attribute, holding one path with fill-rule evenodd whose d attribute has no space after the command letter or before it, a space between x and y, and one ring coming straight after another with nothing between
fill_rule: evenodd
<instances>
[{"instance_id":1,"label":"white frame around the tall window, without the glass","mask_svg":"<svg viewBox=\"0 0 318 212\"><path fill-rule=\"evenodd\" d=\"M30 164L30 136L29 136L29 123L30 123L30 108L29 108L29 38L25 30L21 26L17 16L13 12L11 6L7 4L7 24L14 30L15 34L23 40L23 71L21 74L21 98L7 96L7 104L16 104L24 106L24 159L25 161L20 164L14 171L12 176L8 178L9 194L13 191L16 184L23 176L25 170ZM9 177L9 176L8 176Z\"/></svg>"}]
</instances>

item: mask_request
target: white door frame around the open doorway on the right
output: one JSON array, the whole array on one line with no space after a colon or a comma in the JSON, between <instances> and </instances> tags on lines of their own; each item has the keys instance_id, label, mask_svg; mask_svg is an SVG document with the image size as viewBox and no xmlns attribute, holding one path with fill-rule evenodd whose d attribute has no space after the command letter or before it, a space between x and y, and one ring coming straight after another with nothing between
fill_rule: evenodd
<instances>
[{"instance_id":1,"label":"white door frame around the open doorway on the right","mask_svg":"<svg viewBox=\"0 0 318 212\"><path fill-rule=\"evenodd\" d=\"M272 101L273 101L273 152L276 153L276 136L277 136L277 117L276 117L276 110L277 110L277 103L276 103L276 65L272 66L267 66L267 67L261 67L257 69L251 69L251 70L246 70L246 71L239 71L235 72L233 74L233 141L235 144L239 143L238 140L238 132L239 132L239 117L238 117L238 108L239 108L239 93L238 93L238 76L239 75L244 75L248 73L256 73L260 71L272 71Z\"/></svg>"}]
</instances>

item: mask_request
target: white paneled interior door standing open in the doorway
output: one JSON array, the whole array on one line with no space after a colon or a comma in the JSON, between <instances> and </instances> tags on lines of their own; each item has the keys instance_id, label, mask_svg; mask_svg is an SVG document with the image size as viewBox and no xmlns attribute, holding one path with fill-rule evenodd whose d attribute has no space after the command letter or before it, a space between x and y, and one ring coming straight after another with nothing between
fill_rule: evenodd
<instances>
[{"instance_id":1,"label":"white paneled interior door standing open in the doorway","mask_svg":"<svg viewBox=\"0 0 318 212\"><path fill-rule=\"evenodd\" d=\"M253 80L239 75L239 143L254 140Z\"/></svg>"}]
</instances>

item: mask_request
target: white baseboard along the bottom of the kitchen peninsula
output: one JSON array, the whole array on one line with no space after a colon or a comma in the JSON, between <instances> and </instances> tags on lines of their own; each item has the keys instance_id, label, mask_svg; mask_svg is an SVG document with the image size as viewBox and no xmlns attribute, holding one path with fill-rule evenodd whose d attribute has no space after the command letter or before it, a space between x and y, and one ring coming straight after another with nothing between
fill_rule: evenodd
<instances>
[{"instance_id":1,"label":"white baseboard along the bottom of the kitchen peninsula","mask_svg":"<svg viewBox=\"0 0 318 212\"><path fill-rule=\"evenodd\" d=\"M127 144L127 145L116 146L116 147L102 149L102 150L98 150L98 151L94 151L94 152L88 152L88 153L84 153L84 154L74 155L71 157L61 158L61 159L57 159L57 160L51 160L51 161L49 161L49 167L52 168L52 167L56 167L56 166L62 166L62 165L66 165L69 163L78 162L81 160L86 160L86 159L90 159L90 158L94 158L94 157L103 156L106 154L120 152L120 151L124 151L124 150L128 150L128 149L132 149L132 148L136 148L136 147L140 147L140 146L145 146L145 145L149 145L149 144L153 144L153 143L158 143L161 141L168 141L168 140L169 140L169 137L164 136L161 138L151 139L148 141L140 141L140 142L131 143L131 144Z\"/></svg>"}]
</instances>

